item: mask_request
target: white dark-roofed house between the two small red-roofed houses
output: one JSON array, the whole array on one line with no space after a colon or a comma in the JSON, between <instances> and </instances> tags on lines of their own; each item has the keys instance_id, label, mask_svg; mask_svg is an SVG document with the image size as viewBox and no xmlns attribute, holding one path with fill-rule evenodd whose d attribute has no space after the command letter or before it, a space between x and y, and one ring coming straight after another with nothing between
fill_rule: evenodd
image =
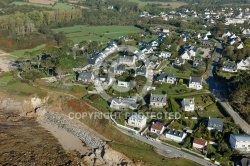
<instances>
[{"instance_id":1,"label":"white dark-roofed house between the two small red-roofed houses","mask_svg":"<svg viewBox=\"0 0 250 166\"><path fill-rule=\"evenodd\" d=\"M163 132L167 139L171 139L175 142L183 142L185 137L187 136L187 133L178 131L175 129L166 128Z\"/></svg>"}]
</instances>

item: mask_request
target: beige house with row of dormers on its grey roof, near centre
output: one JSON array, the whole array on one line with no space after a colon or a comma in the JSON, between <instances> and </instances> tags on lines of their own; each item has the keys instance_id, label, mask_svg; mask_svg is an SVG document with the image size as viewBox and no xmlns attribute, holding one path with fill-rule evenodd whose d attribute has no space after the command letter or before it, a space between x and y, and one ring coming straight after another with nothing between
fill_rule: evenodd
<instances>
[{"instance_id":1,"label":"beige house with row of dormers on its grey roof, near centre","mask_svg":"<svg viewBox=\"0 0 250 166\"><path fill-rule=\"evenodd\" d=\"M166 95L151 94L151 96L150 96L150 105L152 107L162 108L162 107L166 106L166 104L167 104Z\"/></svg>"}]
</instances>

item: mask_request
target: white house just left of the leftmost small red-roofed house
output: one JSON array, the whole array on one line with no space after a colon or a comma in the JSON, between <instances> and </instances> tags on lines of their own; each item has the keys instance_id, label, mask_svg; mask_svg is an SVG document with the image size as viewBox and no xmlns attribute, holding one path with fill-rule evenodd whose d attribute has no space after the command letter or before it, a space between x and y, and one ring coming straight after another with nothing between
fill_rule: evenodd
<instances>
[{"instance_id":1,"label":"white house just left of the leftmost small red-roofed house","mask_svg":"<svg viewBox=\"0 0 250 166\"><path fill-rule=\"evenodd\" d=\"M128 125L142 129L147 124L147 117L141 114L133 114L128 118Z\"/></svg>"}]
</instances>

